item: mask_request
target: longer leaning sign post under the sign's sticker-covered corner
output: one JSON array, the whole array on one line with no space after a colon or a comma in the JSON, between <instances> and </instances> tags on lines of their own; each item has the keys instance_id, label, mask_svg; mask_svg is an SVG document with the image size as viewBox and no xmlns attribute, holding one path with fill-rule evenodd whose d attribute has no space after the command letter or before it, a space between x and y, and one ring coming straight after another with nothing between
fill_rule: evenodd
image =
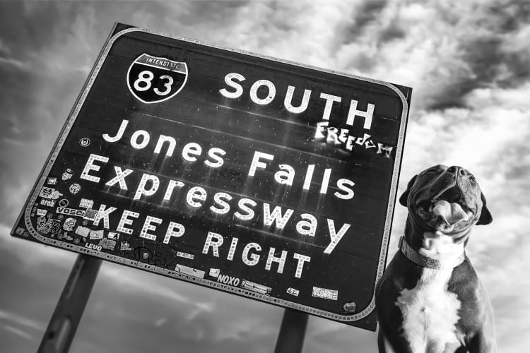
<instances>
[{"instance_id":1,"label":"longer leaning sign post under the sign's sticker-covered corner","mask_svg":"<svg viewBox=\"0 0 530 353\"><path fill-rule=\"evenodd\" d=\"M37 353L68 352L101 263L100 258L77 256Z\"/></svg>"}]
</instances>

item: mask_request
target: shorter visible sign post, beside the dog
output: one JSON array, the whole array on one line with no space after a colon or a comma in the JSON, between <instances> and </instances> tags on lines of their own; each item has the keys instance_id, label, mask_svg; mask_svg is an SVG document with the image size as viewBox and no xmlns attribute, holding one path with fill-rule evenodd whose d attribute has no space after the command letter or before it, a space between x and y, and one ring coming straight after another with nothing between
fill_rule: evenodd
<instances>
[{"instance_id":1,"label":"shorter visible sign post, beside the dog","mask_svg":"<svg viewBox=\"0 0 530 353\"><path fill-rule=\"evenodd\" d=\"M301 353L309 315L295 309L285 309L274 353Z\"/></svg>"}]
</instances>

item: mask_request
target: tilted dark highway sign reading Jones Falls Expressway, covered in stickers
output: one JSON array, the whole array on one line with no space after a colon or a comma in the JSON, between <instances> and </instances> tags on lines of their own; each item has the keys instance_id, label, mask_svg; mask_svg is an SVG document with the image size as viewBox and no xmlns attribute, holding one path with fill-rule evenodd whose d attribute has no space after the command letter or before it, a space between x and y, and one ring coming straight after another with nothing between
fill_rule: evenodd
<instances>
[{"instance_id":1,"label":"tilted dark highway sign reading Jones Falls Expressway, covered in stickers","mask_svg":"<svg viewBox=\"0 0 530 353\"><path fill-rule=\"evenodd\" d=\"M375 330L410 100L117 24L12 234Z\"/></svg>"}]
</instances>

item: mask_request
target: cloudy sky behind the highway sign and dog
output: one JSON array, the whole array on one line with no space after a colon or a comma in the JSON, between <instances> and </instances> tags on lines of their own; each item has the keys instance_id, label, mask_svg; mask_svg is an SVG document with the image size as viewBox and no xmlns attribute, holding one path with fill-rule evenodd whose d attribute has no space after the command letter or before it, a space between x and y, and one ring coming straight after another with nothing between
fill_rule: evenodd
<instances>
[{"instance_id":1,"label":"cloudy sky behind the highway sign and dog","mask_svg":"<svg viewBox=\"0 0 530 353\"><path fill-rule=\"evenodd\" d=\"M467 247L500 352L530 333L530 3L0 1L0 342L37 349L76 255L9 232L114 22L413 88L399 193L431 164L476 175L493 223ZM396 205L389 254L403 233ZM71 352L271 352L283 309L103 263ZM375 352L310 317L304 352Z\"/></svg>"}]
</instances>

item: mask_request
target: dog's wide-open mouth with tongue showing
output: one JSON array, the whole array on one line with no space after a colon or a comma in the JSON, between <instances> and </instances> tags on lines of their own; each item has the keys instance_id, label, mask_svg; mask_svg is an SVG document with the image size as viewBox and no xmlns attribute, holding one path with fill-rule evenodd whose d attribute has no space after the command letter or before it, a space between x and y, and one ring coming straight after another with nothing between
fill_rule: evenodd
<instances>
[{"instance_id":1,"label":"dog's wide-open mouth with tongue showing","mask_svg":"<svg viewBox=\"0 0 530 353\"><path fill-rule=\"evenodd\" d=\"M440 229L469 221L473 217L473 210L467 206L457 186L444 189L432 199L420 202L417 212L423 220Z\"/></svg>"}]
</instances>

